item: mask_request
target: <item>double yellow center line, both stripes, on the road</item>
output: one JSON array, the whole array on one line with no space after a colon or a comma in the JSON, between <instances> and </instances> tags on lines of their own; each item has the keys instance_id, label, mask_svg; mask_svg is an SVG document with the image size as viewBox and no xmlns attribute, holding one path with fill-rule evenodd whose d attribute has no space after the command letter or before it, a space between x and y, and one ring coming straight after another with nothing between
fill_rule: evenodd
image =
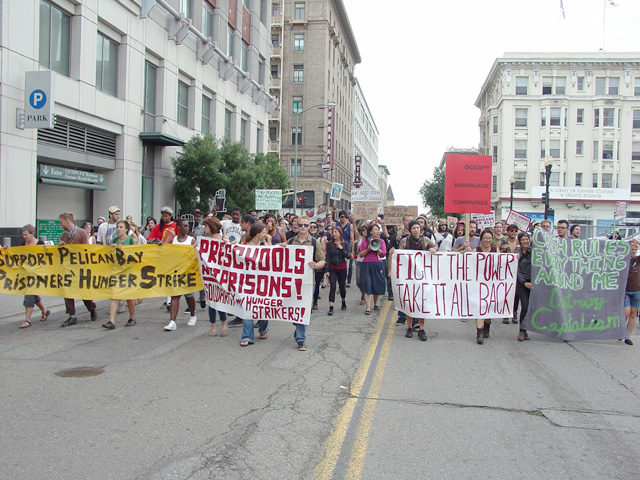
<instances>
[{"instance_id":1,"label":"double yellow center line, both stripes, on the road","mask_svg":"<svg viewBox=\"0 0 640 480\"><path fill-rule=\"evenodd\" d=\"M353 382L351 382L351 396L345 401L340 413L338 414L333 431L325 444L322 460L314 471L314 480L328 480L333 477L336 464L340 459L340 452L342 451L347 430L352 422L354 410L358 401L361 400L360 396L364 382L369 371L374 367L375 370L373 371L371 384L369 385L368 391L364 394L364 406L360 415L358 429L356 431L353 447L351 448L349 463L347 465L347 471L344 478L357 479L362 476L364 460L367 454L369 434L371 433L371 427L373 426L373 418L378 402L378 394L382 387L382 378L389 358L391 341L393 340L395 311L391 315L391 321L387 327L380 353L376 359L375 353L380 343L380 337L382 336L385 322L389 316L391 304L392 302L387 302L382 314L380 315L375 333L367 345L367 349L360 361L360 365L358 366L358 370L353 378ZM374 362L374 360L377 361Z\"/></svg>"}]
</instances>

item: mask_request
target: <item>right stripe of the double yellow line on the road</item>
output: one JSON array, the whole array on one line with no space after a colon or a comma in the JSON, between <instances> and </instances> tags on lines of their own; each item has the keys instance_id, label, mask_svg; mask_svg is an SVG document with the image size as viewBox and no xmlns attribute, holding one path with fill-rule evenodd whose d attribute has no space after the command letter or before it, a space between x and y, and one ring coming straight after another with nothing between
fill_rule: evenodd
<instances>
[{"instance_id":1,"label":"right stripe of the double yellow line on the road","mask_svg":"<svg viewBox=\"0 0 640 480\"><path fill-rule=\"evenodd\" d=\"M360 425L356 433L355 441L353 442L353 450L351 451L351 457L349 458L349 466L345 478L359 479L362 478L362 469L364 468L364 459L367 456L367 446L369 444L369 434L371 433L371 427L373 426L373 417L376 411L376 405L378 404L378 394L382 387L382 377L384 377L384 370L387 366L387 360L389 359L389 351L391 350L391 342L393 341L393 331L395 329L395 314L394 311L391 316L391 322L387 328L387 334L384 338L384 343L380 349L380 357L376 363L376 369L373 372L373 379L371 386L367 392L367 399L362 409L362 415L360 416Z\"/></svg>"}]
</instances>

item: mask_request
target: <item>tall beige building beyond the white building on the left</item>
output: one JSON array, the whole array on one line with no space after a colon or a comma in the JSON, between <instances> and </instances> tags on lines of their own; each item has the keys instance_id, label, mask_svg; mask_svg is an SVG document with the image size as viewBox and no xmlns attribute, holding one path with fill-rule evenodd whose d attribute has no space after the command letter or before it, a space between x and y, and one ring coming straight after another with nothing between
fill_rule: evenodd
<instances>
[{"instance_id":1,"label":"tall beige building beyond the white building on the left","mask_svg":"<svg viewBox=\"0 0 640 480\"><path fill-rule=\"evenodd\" d=\"M328 203L333 182L344 186L337 207L348 208L354 170L354 68L360 52L344 2L274 1L271 13L270 93L279 98L279 106L269 117L269 151L281 159L292 187L297 169L298 191L307 193L303 208ZM333 168L323 169L328 108L313 106L329 103L335 103Z\"/></svg>"}]
</instances>

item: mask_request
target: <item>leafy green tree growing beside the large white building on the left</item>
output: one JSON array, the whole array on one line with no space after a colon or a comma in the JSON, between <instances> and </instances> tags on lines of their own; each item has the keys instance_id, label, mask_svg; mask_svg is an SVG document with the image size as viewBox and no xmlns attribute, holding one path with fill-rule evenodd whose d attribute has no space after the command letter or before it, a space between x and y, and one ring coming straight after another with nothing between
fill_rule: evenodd
<instances>
[{"instance_id":1,"label":"leafy green tree growing beside the large white building on the left","mask_svg":"<svg viewBox=\"0 0 640 480\"><path fill-rule=\"evenodd\" d=\"M171 162L182 212L209 210L219 189L226 190L228 206L245 212L254 208L256 189L284 190L289 184L277 158L261 153L252 157L239 142L216 140L211 134L194 136Z\"/></svg>"}]
</instances>

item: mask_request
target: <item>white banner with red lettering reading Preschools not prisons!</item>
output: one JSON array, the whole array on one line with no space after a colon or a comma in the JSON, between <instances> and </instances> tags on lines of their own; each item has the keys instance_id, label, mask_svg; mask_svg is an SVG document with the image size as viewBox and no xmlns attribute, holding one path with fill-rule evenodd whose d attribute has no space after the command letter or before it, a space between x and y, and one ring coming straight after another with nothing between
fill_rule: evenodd
<instances>
[{"instance_id":1,"label":"white banner with red lettering reading Preschools not prisons!","mask_svg":"<svg viewBox=\"0 0 640 480\"><path fill-rule=\"evenodd\" d=\"M253 320L308 325L313 299L313 248L253 246L198 237L207 304Z\"/></svg>"}]
</instances>

